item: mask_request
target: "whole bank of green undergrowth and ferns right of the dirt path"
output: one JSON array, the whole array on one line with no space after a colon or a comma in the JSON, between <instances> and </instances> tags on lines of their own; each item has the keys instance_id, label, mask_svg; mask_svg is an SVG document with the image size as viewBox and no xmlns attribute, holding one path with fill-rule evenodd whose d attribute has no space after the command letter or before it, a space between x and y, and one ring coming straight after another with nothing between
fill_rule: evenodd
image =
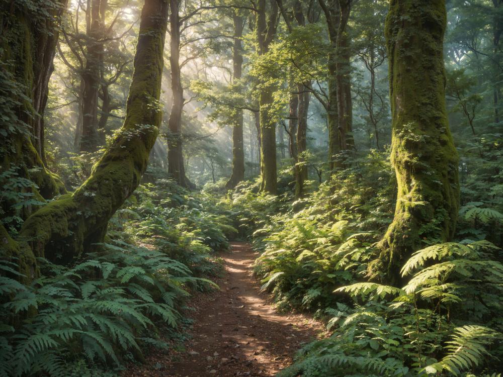
<instances>
[{"instance_id":1,"label":"whole bank of green undergrowth and ferns right of the dirt path","mask_svg":"<svg viewBox=\"0 0 503 377\"><path fill-rule=\"evenodd\" d=\"M493 143L482 140L484 147L484 157L498 160ZM280 310L313 312L332 333L306 345L281 377L495 377L503 369L500 174L470 159L455 241L424 239L403 267L404 286L382 286L367 267L393 218L388 156L347 159L305 199L293 201L287 189L264 196L248 183L222 200L261 251L262 289Z\"/></svg>"}]
</instances>

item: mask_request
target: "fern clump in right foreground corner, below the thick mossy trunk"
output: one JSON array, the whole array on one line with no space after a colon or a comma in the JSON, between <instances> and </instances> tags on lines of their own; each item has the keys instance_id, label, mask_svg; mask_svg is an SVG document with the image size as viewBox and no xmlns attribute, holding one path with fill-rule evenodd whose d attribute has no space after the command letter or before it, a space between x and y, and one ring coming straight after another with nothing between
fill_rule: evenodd
<instances>
[{"instance_id":1,"label":"fern clump in right foreground corner, below the thick mossy trunk","mask_svg":"<svg viewBox=\"0 0 503 377\"><path fill-rule=\"evenodd\" d=\"M488 242L431 246L405 264L404 274L419 271L403 289L370 282L337 289L353 297L355 308L337 303L337 309L327 309L333 334L304 347L280 375L459 376L484 366L499 370L503 265L489 259L495 249ZM432 259L438 263L425 267Z\"/></svg>"}]
</instances>

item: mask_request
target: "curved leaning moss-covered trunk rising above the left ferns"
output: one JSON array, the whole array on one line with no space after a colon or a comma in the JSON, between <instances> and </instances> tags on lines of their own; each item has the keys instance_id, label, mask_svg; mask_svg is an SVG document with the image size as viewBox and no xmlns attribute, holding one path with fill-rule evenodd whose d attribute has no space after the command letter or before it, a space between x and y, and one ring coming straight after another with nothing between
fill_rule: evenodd
<instances>
[{"instance_id":1,"label":"curved leaning moss-covered trunk rising above the left ferns","mask_svg":"<svg viewBox=\"0 0 503 377\"><path fill-rule=\"evenodd\" d=\"M161 122L159 96L167 25L166 0L145 0L126 118L91 176L73 193L35 212L18 240L35 256L68 263L103 241L108 220L138 186Z\"/></svg>"}]
</instances>

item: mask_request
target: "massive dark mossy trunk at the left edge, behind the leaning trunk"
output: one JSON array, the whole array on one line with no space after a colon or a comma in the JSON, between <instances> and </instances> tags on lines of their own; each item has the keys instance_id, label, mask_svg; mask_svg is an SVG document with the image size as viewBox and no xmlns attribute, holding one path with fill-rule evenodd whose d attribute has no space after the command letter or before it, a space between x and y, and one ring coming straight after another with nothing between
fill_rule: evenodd
<instances>
[{"instance_id":1,"label":"massive dark mossy trunk at the left edge, behind the leaning trunk","mask_svg":"<svg viewBox=\"0 0 503 377\"><path fill-rule=\"evenodd\" d=\"M0 173L33 181L36 186L23 190L42 202L64 192L44 164L43 114L65 8L66 0L0 4ZM13 204L2 201L5 216L13 215Z\"/></svg>"}]
</instances>

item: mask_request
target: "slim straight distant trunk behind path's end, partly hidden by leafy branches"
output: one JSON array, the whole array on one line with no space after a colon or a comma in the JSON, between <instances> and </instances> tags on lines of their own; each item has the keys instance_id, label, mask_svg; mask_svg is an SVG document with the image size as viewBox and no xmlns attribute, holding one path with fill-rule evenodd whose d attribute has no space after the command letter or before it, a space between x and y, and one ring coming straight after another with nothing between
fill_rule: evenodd
<instances>
[{"instance_id":1,"label":"slim straight distant trunk behind path's end, partly hidden by leafy branches","mask_svg":"<svg viewBox=\"0 0 503 377\"><path fill-rule=\"evenodd\" d=\"M232 15L234 23L234 46L232 49L232 66L234 80L239 80L242 74L243 52L241 38L243 36L244 20L242 16ZM225 184L227 190L233 189L244 179L244 141L243 141L243 110L234 110L234 124L232 127L232 174Z\"/></svg>"}]
</instances>

